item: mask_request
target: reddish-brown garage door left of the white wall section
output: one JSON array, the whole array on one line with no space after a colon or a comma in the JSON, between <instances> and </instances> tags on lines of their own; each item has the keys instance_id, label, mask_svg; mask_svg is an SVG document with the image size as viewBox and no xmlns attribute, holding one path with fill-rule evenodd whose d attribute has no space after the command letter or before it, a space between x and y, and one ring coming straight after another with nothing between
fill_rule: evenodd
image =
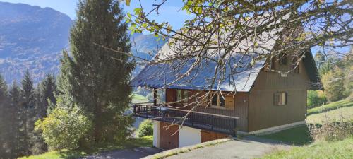
<instances>
[{"instance_id":1,"label":"reddish-brown garage door left of the white wall section","mask_svg":"<svg viewBox=\"0 0 353 159\"><path fill-rule=\"evenodd\" d=\"M160 148L163 148L163 149L178 148L179 126L178 125L169 126L169 129L166 130L164 126L168 126L168 125L169 123L165 123L165 122L160 123ZM177 133L174 134L176 131Z\"/></svg>"}]
</instances>

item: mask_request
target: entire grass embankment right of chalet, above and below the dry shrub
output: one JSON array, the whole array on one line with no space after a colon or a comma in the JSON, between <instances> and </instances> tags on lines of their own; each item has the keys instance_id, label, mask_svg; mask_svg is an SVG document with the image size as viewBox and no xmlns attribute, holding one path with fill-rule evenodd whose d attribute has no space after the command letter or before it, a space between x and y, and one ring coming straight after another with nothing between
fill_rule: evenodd
<instances>
[{"instance_id":1,"label":"entire grass embankment right of chalet, above and below the dry shrub","mask_svg":"<svg viewBox=\"0 0 353 159\"><path fill-rule=\"evenodd\" d=\"M312 108L308 110L306 122L310 124L323 124L324 121L339 122L342 117L353 120L353 101L340 100ZM261 137L299 145L306 144L306 146L294 146L289 151L270 153L263 158L353 158L352 136L342 141L315 141L312 143L313 139L306 125Z\"/></svg>"}]
</instances>

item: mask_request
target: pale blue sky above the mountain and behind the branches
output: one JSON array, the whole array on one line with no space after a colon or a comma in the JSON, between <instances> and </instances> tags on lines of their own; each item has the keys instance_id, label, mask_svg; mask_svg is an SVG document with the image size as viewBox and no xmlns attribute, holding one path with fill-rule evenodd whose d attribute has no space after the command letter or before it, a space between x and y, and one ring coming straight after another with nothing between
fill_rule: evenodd
<instances>
[{"instance_id":1,"label":"pale blue sky above the mountain and behind the branches","mask_svg":"<svg viewBox=\"0 0 353 159\"><path fill-rule=\"evenodd\" d=\"M29 4L32 6L40 6L42 8L50 7L55 9L56 11L60 11L61 13L65 13L71 19L76 18L76 4L78 0L0 0L3 2L10 2L10 3L22 3L22 4ZM152 8L152 4L155 0L142 0L143 8L146 11L150 11ZM122 2L124 11L133 13L134 8L139 7L138 0L131 0L130 6L126 6L125 2ZM160 8L160 14L157 16L156 13L152 14L150 18L156 19L158 22L161 21L168 21L174 28L181 28L184 24L184 20L190 18L190 15L186 14L185 11L181 10L181 1L167 1L166 4Z\"/></svg>"}]
</instances>

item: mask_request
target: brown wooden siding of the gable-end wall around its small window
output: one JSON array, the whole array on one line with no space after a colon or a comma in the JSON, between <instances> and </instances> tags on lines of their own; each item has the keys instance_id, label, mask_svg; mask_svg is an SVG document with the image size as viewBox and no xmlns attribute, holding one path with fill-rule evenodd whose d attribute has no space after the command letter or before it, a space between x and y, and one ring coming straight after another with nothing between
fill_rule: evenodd
<instances>
[{"instance_id":1,"label":"brown wooden siding of the gable-end wall around its small window","mask_svg":"<svg viewBox=\"0 0 353 159\"><path fill-rule=\"evenodd\" d=\"M304 121L308 88L309 78L302 62L299 73L291 72L287 77L261 71L249 93L249 131ZM278 92L287 93L287 105L273 104L273 95Z\"/></svg>"}]
</instances>

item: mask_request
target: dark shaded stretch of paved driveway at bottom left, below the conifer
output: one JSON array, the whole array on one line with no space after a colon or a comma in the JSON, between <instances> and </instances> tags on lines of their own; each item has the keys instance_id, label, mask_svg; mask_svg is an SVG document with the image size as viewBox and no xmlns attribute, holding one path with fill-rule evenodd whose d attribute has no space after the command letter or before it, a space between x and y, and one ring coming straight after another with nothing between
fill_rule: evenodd
<instances>
[{"instance_id":1,"label":"dark shaded stretch of paved driveway at bottom left, below the conifer","mask_svg":"<svg viewBox=\"0 0 353 159\"><path fill-rule=\"evenodd\" d=\"M137 159L159 152L160 150L157 148L133 148L90 155L81 159Z\"/></svg>"}]
</instances>

